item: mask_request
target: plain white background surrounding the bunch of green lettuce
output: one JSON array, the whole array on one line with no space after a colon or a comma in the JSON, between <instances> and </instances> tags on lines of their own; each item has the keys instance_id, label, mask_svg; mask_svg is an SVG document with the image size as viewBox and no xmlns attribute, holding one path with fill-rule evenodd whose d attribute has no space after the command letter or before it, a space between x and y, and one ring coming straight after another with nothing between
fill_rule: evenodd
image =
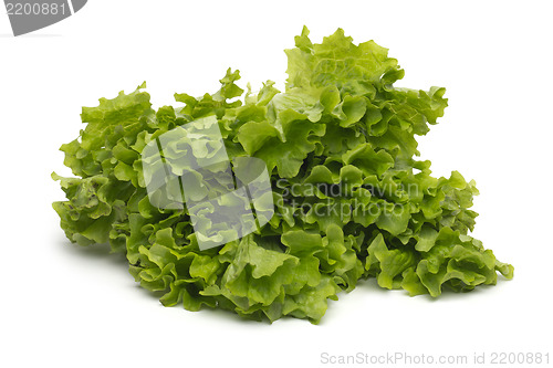
<instances>
[{"instance_id":1,"label":"plain white background surrounding the bunch of green lettuce","mask_svg":"<svg viewBox=\"0 0 553 368\"><path fill-rule=\"evenodd\" d=\"M395 351L553 360L552 10L545 1L96 0L13 38L2 9L0 366L319 367L328 366L322 353ZM242 86L283 86L283 49L303 24L314 42L341 27L390 49L406 70L399 86L448 88L450 106L419 150L437 176L477 180L474 236L515 266L514 280L438 299L368 281L331 302L319 326L269 325L165 308L124 257L64 238L51 208L63 192L50 174L70 174L58 148L83 127L81 106L143 81L155 106L171 104L175 92L215 92L229 66Z\"/></svg>"}]
</instances>

